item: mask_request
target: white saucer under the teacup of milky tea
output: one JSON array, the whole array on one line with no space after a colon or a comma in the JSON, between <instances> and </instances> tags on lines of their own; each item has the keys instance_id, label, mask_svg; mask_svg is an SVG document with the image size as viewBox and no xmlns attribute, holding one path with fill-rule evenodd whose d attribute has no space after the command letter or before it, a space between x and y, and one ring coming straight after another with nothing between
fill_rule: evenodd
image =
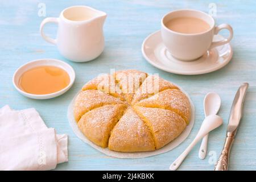
<instances>
[{"instance_id":1,"label":"white saucer under the teacup of milky tea","mask_svg":"<svg viewBox=\"0 0 256 182\"><path fill-rule=\"evenodd\" d=\"M225 39L221 35L215 35L213 40ZM149 35L142 44L142 54L148 63L163 71L180 75L200 75L216 71L232 58L233 49L230 44L218 46L205 53L194 61L181 61L175 59L162 42L161 32L156 31Z\"/></svg>"}]
</instances>

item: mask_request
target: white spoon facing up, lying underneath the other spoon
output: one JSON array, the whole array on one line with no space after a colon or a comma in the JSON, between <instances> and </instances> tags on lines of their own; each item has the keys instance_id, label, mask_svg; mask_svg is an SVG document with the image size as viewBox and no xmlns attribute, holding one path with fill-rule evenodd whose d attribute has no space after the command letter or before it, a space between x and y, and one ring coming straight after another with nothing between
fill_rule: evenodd
<instances>
[{"instance_id":1,"label":"white spoon facing up, lying underneath the other spoon","mask_svg":"<svg viewBox=\"0 0 256 182\"><path fill-rule=\"evenodd\" d=\"M221 106L221 98L217 93L209 92L204 98L204 115L208 117L208 115L217 114L218 110L220 110ZM208 134L204 136L200 150L199 150L199 158L204 159L207 154L207 143L208 143Z\"/></svg>"}]
</instances>

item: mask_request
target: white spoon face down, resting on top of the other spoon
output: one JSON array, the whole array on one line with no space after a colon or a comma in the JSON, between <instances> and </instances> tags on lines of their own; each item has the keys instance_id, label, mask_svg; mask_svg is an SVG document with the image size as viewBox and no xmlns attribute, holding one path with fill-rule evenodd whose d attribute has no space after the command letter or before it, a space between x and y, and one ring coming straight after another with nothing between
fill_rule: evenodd
<instances>
[{"instance_id":1,"label":"white spoon face down, resting on top of the other spoon","mask_svg":"<svg viewBox=\"0 0 256 182\"><path fill-rule=\"evenodd\" d=\"M186 148L186 150L174 161L174 163L171 164L169 169L172 171L176 170L183 162L185 157L188 155L188 153L192 150L193 146L195 146L195 144L199 142L210 131L222 125L222 122L222 118L218 115L209 115L208 117L206 117L200 127L199 132L196 135L196 138L191 144L189 144L188 148Z\"/></svg>"}]
</instances>

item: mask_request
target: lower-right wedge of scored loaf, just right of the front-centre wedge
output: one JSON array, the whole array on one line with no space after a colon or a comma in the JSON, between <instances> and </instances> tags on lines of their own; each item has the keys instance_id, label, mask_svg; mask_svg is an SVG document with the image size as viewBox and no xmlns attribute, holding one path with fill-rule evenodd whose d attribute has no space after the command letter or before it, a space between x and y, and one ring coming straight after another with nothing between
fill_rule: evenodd
<instances>
[{"instance_id":1,"label":"lower-right wedge of scored loaf, just right of the front-centre wedge","mask_svg":"<svg viewBox=\"0 0 256 182\"><path fill-rule=\"evenodd\" d=\"M186 122L171 110L134 106L136 113L150 129L156 150L165 146L185 129Z\"/></svg>"}]
</instances>

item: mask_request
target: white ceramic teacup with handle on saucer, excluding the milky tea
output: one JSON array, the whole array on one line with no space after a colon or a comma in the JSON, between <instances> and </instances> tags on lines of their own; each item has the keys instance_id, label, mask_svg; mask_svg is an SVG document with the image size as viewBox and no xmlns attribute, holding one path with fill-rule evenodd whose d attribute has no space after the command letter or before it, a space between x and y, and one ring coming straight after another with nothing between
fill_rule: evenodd
<instances>
[{"instance_id":1,"label":"white ceramic teacup with handle on saucer, excluding the milky tea","mask_svg":"<svg viewBox=\"0 0 256 182\"><path fill-rule=\"evenodd\" d=\"M209 24L209 30L197 34L184 34L175 32L166 27L166 23L174 18L191 17L199 18ZM183 61L196 60L203 56L205 52L216 46L229 43L233 38L233 29L229 24L220 24L215 27L212 16L197 10L176 10L171 11L162 18L161 34L163 43L176 59ZM229 38L218 42L213 42L213 36L222 29L228 29Z\"/></svg>"}]
</instances>

